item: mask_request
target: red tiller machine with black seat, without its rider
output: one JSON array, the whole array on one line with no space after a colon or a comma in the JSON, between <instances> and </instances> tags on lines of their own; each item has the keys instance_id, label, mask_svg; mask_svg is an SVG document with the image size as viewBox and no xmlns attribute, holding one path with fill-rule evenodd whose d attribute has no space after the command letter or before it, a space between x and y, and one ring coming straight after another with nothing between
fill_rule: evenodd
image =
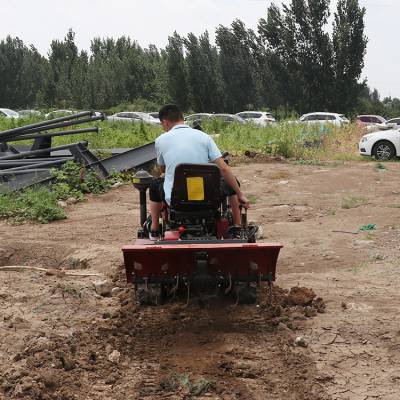
<instances>
[{"instance_id":1,"label":"red tiller machine with black seat, without its rider","mask_svg":"<svg viewBox=\"0 0 400 400\"><path fill-rule=\"evenodd\" d=\"M262 282L275 280L279 243L256 243L258 227L233 226L227 198L221 195L221 175L214 164L176 167L171 204L160 223L161 238L149 240L146 192L153 177L139 171L134 186L140 192L141 227L135 244L122 248L127 280L142 303L161 304L177 293L200 299L230 295L236 302L256 301Z\"/></svg>"}]
</instances>

